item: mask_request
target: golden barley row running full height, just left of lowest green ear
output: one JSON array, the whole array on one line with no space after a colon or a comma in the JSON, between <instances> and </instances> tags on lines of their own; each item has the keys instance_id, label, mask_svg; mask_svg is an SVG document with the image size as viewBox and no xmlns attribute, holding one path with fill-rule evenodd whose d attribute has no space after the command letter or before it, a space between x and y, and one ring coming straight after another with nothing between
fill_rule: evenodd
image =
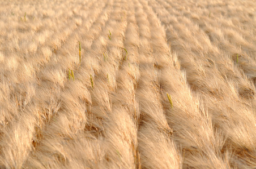
<instances>
[{"instance_id":1,"label":"golden barley row running full height, just left of lowest green ear","mask_svg":"<svg viewBox=\"0 0 256 169\"><path fill-rule=\"evenodd\" d=\"M169 127L159 93L159 71L155 64L155 52L161 50L155 44L155 24L148 12L146 1L135 1L136 23L139 29L139 81L136 97L139 102L140 124L138 150L142 168L180 168L181 156L170 139ZM155 158L159 157L159 158Z\"/></svg>"}]
</instances>

